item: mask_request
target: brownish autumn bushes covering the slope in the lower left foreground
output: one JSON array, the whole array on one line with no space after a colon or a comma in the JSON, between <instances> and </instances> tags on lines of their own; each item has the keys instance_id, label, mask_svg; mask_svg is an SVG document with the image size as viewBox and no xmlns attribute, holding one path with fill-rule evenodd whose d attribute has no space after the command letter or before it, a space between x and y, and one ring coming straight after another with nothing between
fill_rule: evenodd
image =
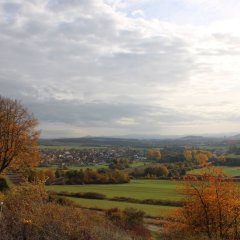
<instances>
[{"instance_id":1,"label":"brownish autumn bushes covering the slope in the lower left foreground","mask_svg":"<svg viewBox=\"0 0 240 240\"><path fill-rule=\"evenodd\" d=\"M49 202L44 186L32 184L7 193L0 232L0 240L131 240L99 214Z\"/></svg>"}]
</instances>

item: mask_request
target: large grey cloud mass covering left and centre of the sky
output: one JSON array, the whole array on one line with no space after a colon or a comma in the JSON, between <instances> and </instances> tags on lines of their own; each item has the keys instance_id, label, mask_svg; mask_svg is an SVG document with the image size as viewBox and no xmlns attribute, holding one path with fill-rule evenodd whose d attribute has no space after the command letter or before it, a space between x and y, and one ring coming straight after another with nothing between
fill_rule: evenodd
<instances>
[{"instance_id":1,"label":"large grey cloud mass covering left and centre of the sky","mask_svg":"<svg viewBox=\"0 0 240 240\"><path fill-rule=\"evenodd\" d=\"M99 0L2 5L0 94L21 99L40 122L138 132L207 120L167 103L193 73L212 73L196 60L211 51L193 53L184 34L160 23L155 32L151 21L128 18ZM234 46L222 36L211 39L229 47L216 49L219 55Z\"/></svg>"}]
</instances>

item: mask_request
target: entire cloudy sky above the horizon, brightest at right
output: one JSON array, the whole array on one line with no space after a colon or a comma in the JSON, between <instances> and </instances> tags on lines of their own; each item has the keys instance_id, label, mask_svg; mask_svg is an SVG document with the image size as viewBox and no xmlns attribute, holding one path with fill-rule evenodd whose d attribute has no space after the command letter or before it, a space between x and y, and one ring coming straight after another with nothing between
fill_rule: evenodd
<instances>
[{"instance_id":1,"label":"entire cloudy sky above the horizon, brightest at right","mask_svg":"<svg viewBox=\"0 0 240 240\"><path fill-rule=\"evenodd\" d=\"M41 137L239 133L239 0L0 0L0 95Z\"/></svg>"}]
</instances>

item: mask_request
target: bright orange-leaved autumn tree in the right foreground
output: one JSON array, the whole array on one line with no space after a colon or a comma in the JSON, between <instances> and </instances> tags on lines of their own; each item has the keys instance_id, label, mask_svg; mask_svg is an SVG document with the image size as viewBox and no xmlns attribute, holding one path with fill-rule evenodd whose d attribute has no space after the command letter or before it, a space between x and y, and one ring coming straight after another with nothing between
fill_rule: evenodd
<instances>
[{"instance_id":1,"label":"bright orange-leaved autumn tree in the right foreground","mask_svg":"<svg viewBox=\"0 0 240 240\"><path fill-rule=\"evenodd\" d=\"M170 227L176 238L166 239L240 239L240 189L232 179L209 168L199 177L187 176L183 194L184 206Z\"/></svg>"}]
</instances>

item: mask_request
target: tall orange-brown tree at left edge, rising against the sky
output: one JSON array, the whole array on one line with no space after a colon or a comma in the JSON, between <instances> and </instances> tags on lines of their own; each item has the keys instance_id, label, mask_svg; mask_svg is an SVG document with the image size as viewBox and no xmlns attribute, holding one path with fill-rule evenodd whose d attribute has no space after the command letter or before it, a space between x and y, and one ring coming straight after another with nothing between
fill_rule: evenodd
<instances>
[{"instance_id":1,"label":"tall orange-brown tree at left edge, rising against the sky","mask_svg":"<svg viewBox=\"0 0 240 240\"><path fill-rule=\"evenodd\" d=\"M37 120L19 101L0 96L0 173L37 165L36 126Z\"/></svg>"}]
</instances>

